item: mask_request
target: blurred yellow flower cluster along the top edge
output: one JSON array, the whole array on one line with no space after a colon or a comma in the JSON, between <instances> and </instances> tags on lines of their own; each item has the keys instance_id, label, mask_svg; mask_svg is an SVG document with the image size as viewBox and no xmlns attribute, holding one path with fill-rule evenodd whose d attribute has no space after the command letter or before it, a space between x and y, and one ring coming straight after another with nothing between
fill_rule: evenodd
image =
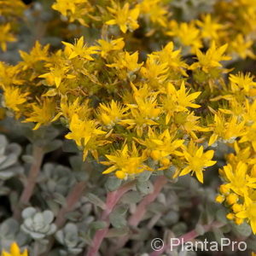
<instances>
[{"instance_id":1,"label":"blurred yellow flower cluster along the top edge","mask_svg":"<svg viewBox=\"0 0 256 256\"><path fill-rule=\"evenodd\" d=\"M175 3L173 4L175 6ZM110 7L109 7L110 6ZM202 14L189 22L172 18L172 7L160 0L104 1L100 9L90 0L56 0L52 8L69 21L78 20L82 26L116 26L127 33L145 26L148 37L172 38L184 52L196 53L212 40L218 45L229 44L234 58L255 58L253 40L255 32L256 3L251 0L217 0L212 14ZM109 28L110 29L110 28Z\"/></svg>"}]
</instances>

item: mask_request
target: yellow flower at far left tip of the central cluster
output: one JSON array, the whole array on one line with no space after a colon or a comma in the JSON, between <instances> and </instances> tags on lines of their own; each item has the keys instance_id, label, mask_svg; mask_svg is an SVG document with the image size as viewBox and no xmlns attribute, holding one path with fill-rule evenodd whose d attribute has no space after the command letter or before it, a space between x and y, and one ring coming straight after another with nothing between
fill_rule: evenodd
<instances>
[{"instance_id":1,"label":"yellow flower at far left tip of the central cluster","mask_svg":"<svg viewBox=\"0 0 256 256\"><path fill-rule=\"evenodd\" d=\"M27 101L26 96L29 95L29 92L21 92L19 87L13 86L5 86L3 90L5 107L10 108L16 112L19 112L20 105Z\"/></svg>"}]
</instances>

